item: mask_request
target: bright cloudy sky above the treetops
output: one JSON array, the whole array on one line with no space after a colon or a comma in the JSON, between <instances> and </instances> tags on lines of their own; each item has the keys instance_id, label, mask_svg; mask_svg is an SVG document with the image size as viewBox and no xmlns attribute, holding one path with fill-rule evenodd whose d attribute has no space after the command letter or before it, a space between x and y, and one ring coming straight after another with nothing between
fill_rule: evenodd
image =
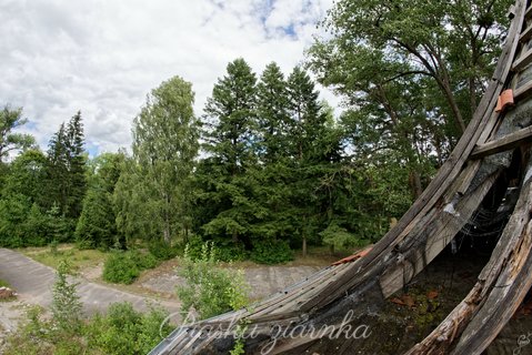
<instances>
[{"instance_id":1,"label":"bright cloudy sky above the treetops","mask_svg":"<svg viewBox=\"0 0 532 355\"><path fill-rule=\"evenodd\" d=\"M192 82L194 111L227 64L258 77L304 59L332 0L0 0L0 104L23 108L43 150L81 110L91 155L131 144L133 118L162 81ZM337 99L320 88L333 106Z\"/></svg>"}]
</instances>

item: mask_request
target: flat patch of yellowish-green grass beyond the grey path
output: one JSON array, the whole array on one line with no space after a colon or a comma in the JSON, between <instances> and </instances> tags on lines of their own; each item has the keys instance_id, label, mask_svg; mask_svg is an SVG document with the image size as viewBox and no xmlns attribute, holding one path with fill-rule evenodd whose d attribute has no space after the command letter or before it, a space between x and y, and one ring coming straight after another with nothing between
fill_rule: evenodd
<instances>
[{"instance_id":1,"label":"flat patch of yellowish-green grass beyond the grey path","mask_svg":"<svg viewBox=\"0 0 532 355\"><path fill-rule=\"evenodd\" d=\"M21 248L21 253L44 265L57 268L59 262L68 258L74 271L84 267L96 266L107 257L107 253L98 250L78 250L72 244L61 244L58 251L53 253L50 247L29 247Z\"/></svg>"}]
</instances>

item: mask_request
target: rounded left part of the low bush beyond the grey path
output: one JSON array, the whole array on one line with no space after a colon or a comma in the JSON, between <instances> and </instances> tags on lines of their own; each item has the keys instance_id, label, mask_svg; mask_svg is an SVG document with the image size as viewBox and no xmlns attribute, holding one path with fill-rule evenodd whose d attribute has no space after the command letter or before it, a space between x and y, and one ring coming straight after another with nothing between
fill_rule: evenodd
<instances>
[{"instance_id":1,"label":"rounded left part of the low bush beyond the grey path","mask_svg":"<svg viewBox=\"0 0 532 355\"><path fill-rule=\"evenodd\" d=\"M117 284L131 284L140 270L129 252L113 252L103 264L103 280Z\"/></svg>"}]
</instances>

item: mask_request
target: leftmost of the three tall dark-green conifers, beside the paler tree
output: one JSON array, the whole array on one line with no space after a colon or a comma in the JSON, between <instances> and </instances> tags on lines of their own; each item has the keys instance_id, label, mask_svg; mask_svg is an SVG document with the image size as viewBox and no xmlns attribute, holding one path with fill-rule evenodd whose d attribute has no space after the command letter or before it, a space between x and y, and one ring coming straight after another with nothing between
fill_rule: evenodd
<instances>
[{"instance_id":1,"label":"leftmost of the three tall dark-green conifers, beside the paler tree","mask_svg":"<svg viewBox=\"0 0 532 355\"><path fill-rule=\"evenodd\" d=\"M209 222L202 231L230 236L237 243L249 241L250 224L260 206L251 199L254 182L245 171L257 163L257 78L243 59L227 67L205 105L203 140L210 156L203 160L197 181L202 193L199 204L215 203L209 209ZM208 169L207 169L208 168Z\"/></svg>"}]
</instances>

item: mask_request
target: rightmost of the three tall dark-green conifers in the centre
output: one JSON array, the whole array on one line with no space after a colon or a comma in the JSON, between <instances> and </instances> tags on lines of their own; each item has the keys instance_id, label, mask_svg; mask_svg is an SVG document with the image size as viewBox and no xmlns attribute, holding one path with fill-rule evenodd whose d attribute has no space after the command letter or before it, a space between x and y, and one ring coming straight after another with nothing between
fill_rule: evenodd
<instances>
[{"instance_id":1,"label":"rightmost of the three tall dark-green conifers in the centre","mask_svg":"<svg viewBox=\"0 0 532 355\"><path fill-rule=\"evenodd\" d=\"M339 155L339 142L331 134L327 110L319 102L319 92L310 77L295 67L288 79L290 100L290 154L294 179L291 181L291 206L294 227L301 237L303 256L309 240L318 241L332 203L321 181ZM332 118L329 115L329 119Z\"/></svg>"}]
</instances>

